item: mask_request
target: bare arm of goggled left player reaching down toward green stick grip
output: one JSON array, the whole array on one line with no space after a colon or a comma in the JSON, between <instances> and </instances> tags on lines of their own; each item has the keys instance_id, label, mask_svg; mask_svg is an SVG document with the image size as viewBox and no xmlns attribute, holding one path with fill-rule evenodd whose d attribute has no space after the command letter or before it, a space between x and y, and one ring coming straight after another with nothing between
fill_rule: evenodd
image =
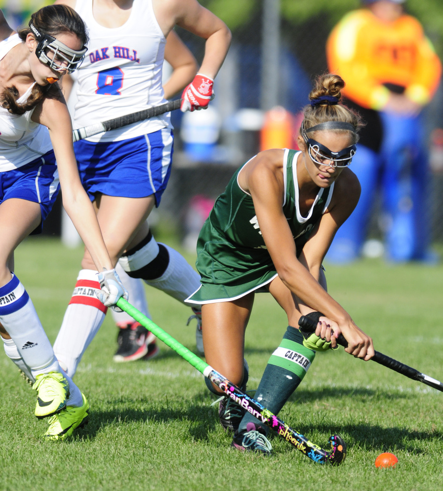
<instances>
[{"instance_id":1,"label":"bare arm of goggled left player reaching down toward green stick grip","mask_svg":"<svg viewBox=\"0 0 443 491\"><path fill-rule=\"evenodd\" d=\"M71 118L63 96L60 94L58 98L45 99L34 110L32 120L49 129L63 193L63 207L89 250L97 270L111 270L114 265L104 245L99 222L78 176Z\"/></svg>"}]
</instances>

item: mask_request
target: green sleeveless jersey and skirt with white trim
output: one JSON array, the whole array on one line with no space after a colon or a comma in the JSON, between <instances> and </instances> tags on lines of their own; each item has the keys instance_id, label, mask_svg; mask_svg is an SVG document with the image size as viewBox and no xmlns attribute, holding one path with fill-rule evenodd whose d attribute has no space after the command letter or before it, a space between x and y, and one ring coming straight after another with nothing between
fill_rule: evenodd
<instances>
[{"instance_id":1,"label":"green sleeveless jersey and skirt with white trim","mask_svg":"<svg viewBox=\"0 0 443 491\"><path fill-rule=\"evenodd\" d=\"M285 150L283 213L300 254L314 225L326 211L334 191L319 188L306 217L299 209L296 162L299 152ZM277 272L271 260L250 194L237 182L240 167L226 190L217 198L200 232L197 243L197 270L202 285L187 301L210 303L238 299L269 283Z\"/></svg>"}]
</instances>

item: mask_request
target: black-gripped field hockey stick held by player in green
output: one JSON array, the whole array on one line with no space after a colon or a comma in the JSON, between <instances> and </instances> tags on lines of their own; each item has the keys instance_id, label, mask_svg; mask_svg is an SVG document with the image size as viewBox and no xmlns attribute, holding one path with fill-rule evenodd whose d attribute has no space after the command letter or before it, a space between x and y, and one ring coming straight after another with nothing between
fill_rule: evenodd
<instances>
[{"instance_id":1,"label":"black-gripped field hockey stick held by player in green","mask_svg":"<svg viewBox=\"0 0 443 491\"><path fill-rule=\"evenodd\" d=\"M317 327L315 321L304 315L300 317L298 324L300 326L300 331L302 332L302 334L306 334L306 335L312 334L315 331L315 328ZM337 338L337 342L341 346L344 346L345 348L348 347L348 342L346 341L343 334L341 333ZM430 385L431 387L434 387L435 389L441 390L443 392L442 382L439 382L438 380L435 380L432 377L428 377L424 373L421 373L415 368L405 365L400 361L394 360L389 356L383 355L383 353L379 353L378 351L376 351L375 355L371 358L371 360L387 368L390 368L394 372L398 372L401 375L405 375L406 377L409 377L412 380L417 380L418 382L422 382L425 383L426 385Z\"/></svg>"}]
</instances>

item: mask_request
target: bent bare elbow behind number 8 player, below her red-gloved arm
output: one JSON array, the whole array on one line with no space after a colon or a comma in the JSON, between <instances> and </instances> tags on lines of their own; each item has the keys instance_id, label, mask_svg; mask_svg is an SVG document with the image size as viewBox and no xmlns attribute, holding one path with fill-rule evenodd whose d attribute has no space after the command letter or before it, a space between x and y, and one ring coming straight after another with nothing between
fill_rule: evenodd
<instances>
[{"instance_id":1,"label":"bent bare elbow behind number 8 player, below her red-gloved arm","mask_svg":"<svg viewBox=\"0 0 443 491\"><path fill-rule=\"evenodd\" d=\"M197 73L197 61L173 30L166 38L164 57L173 68L171 77L163 85L165 99L170 99L192 82Z\"/></svg>"}]
</instances>

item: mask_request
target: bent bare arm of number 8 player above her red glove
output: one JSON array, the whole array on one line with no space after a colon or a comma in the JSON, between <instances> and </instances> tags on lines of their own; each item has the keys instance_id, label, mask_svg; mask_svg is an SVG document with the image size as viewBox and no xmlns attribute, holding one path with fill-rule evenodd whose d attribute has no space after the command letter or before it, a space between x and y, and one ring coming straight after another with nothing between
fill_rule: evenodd
<instances>
[{"instance_id":1,"label":"bent bare arm of number 8 player above her red glove","mask_svg":"<svg viewBox=\"0 0 443 491\"><path fill-rule=\"evenodd\" d=\"M226 24L196 0L153 0L157 22L165 35L178 25L206 39L200 73L217 75L231 44Z\"/></svg>"}]
</instances>

